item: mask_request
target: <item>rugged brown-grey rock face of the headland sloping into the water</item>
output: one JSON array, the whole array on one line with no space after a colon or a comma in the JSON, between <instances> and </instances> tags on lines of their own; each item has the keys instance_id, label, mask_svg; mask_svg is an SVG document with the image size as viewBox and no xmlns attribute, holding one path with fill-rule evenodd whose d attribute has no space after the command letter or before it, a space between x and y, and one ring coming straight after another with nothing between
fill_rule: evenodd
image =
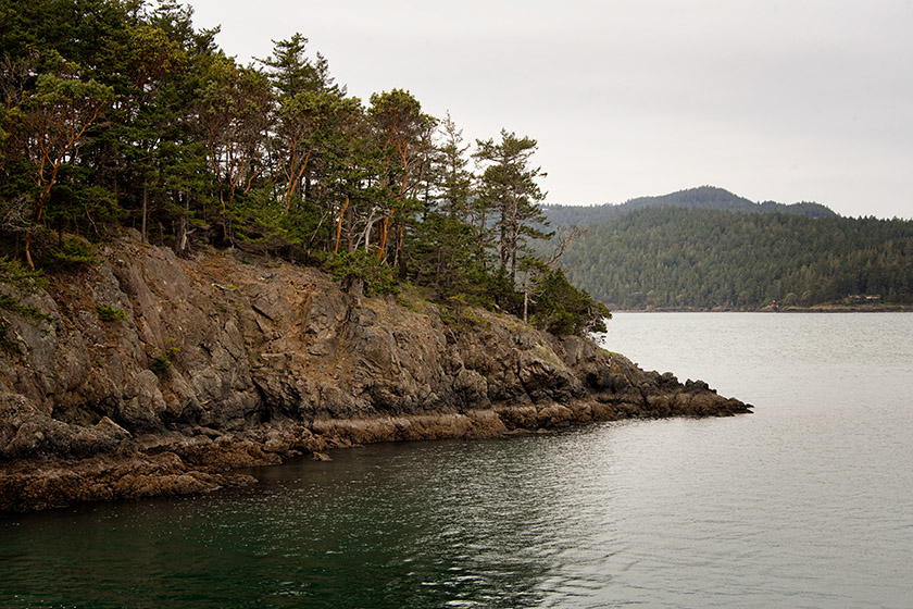
<instances>
[{"instance_id":1,"label":"rugged brown-grey rock face of the headland sloping into the water","mask_svg":"<svg viewBox=\"0 0 913 609\"><path fill-rule=\"evenodd\" d=\"M0 356L0 510L199 493L352 444L749 409L589 340L313 269L129 238L101 258L28 297L51 323L5 314L22 352Z\"/></svg>"}]
</instances>

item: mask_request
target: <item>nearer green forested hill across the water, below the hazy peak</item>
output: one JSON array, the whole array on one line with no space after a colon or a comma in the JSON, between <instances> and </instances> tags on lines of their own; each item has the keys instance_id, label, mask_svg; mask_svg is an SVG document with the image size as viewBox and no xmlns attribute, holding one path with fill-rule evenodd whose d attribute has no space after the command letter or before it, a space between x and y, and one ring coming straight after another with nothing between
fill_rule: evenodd
<instances>
[{"instance_id":1,"label":"nearer green forested hill across the water, below the hazy peak","mask_svg":"<svg viewBox=\"0 0 913 609\"><path fill-rule=\"evenodd\" d=\"M589 226L561 263L618 309L911 304L913 221L647 208Z\"/></svg>"}]
</instances>

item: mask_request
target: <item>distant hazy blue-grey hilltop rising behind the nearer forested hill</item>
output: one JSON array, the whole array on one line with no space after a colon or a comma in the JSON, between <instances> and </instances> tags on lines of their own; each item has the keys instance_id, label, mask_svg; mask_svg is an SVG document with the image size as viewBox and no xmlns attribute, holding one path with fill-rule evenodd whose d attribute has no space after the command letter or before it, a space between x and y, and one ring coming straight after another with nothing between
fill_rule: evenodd
<instances>
[{"instance_id":1,"label":"distant hazy blue-grey hilltop rising behind the nearer forested hill","mask_svg":"<svg viewBox=\"0 0 913 609\"><path fill-rule=\"evenodd\" d=\"M639 197L621 204L602 206L545 206L546 216L552 226L577 224L585 226L614 220L629 211L642 208L692 208L725 210L746 213L789 213L808 217L831 217L837 215L821 203L784 204L774 201L755 203L723 188L701 186L688 188L660 197Z\"/></svg>"}]
</instances>

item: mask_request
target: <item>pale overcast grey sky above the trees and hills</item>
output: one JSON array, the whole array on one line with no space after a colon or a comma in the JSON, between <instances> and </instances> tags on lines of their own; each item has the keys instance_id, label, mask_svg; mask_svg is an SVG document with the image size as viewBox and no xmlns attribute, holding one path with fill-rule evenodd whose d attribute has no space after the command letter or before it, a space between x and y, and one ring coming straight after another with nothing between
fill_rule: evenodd
<instances>
[{"instance_id":1,"label":"pale overcast grey sky above the trees and hills","mask_svg":"<svg viewBox=\"0 0 913 609\"><path fill-rule=\"evenodd\" d=\"M710 185L913 217L913 0L189 0L241 63L300 33L349 95L538 141L548 203Z\"/></svg>"}]
</instances>

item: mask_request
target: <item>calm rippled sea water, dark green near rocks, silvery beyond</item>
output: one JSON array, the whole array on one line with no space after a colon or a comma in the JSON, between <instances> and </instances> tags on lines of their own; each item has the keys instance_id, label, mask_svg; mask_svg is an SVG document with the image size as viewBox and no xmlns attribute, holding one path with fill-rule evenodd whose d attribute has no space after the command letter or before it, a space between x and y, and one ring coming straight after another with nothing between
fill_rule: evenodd
<instances>
[{"instance_id":1,"label":"calm rippled sea water, dark green near rocks, silvery beyond","mask_svg":"<svg viewBox=\"0 0 913 609\"><path fill-rule=\"evenodd\" d=\"M620 313L604 344L755 413L0 517L0 607L913 606L913 315Z\"/></svg>"}]
</instances>

